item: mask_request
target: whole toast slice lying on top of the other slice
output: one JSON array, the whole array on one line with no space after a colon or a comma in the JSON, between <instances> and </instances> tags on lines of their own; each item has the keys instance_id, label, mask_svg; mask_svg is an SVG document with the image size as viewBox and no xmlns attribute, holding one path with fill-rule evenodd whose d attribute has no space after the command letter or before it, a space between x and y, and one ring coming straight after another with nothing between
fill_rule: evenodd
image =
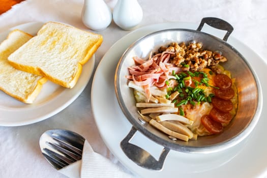
<instances>
[{"instance_id":1,"label":"whole toast slice lying on top of the other slice","mask_svg":"<svg viewBox=\"0 0 267 178\"><path fill-rule=\"evenodd\" d=\"M67 88L76 84L103 37L58 22L47 22L8 60L16 69L42 75Z\"/></svg>"}]
</instances>

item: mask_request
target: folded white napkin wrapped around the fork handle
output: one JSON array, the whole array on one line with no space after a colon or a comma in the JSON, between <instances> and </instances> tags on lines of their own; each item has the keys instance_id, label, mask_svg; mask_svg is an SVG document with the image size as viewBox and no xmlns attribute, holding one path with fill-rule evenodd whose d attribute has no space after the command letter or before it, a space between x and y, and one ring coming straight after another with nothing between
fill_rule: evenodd
<instances>
[{"instance_id":1,"label":"folded white napkin wrapped around the fork handle","mask_svg":"<svg viewBox=\"0 0 267 178\"><path fill-rule=\"evenodd\" d=\"M121 171L120 168L110 160L94 152L87 140L84 141L82 159L58 171L71 178L131 177L130 174Z\"/></svg>"}]
</instances>

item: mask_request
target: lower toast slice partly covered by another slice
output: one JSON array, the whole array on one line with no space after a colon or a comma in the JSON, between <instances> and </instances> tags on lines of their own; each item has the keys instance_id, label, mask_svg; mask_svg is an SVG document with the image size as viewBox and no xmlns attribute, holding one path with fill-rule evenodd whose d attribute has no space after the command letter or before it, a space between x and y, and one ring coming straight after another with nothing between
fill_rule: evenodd
<instances>
[{"instance_id":1,"label":"lower toast slice partly covered by another slice","mask_svg":"<svg viewBox=\"0 0 267 178\"><path fill-rule=\"evenodd\" d=\"M33 103L47 79L15 69L9 64L8 56L31 38L31 35L15 29L0 44L0 89L28 104Z\"/></svg>"}]
</instances>

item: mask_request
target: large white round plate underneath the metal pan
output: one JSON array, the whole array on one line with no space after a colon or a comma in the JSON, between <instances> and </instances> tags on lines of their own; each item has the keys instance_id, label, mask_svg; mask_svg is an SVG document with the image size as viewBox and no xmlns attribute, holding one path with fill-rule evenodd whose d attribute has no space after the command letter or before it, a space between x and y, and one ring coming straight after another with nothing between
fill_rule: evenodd
<instances>
[{"instance_id":1,"label":"large white round plate underneath the metal pan","mask_svg":"<svg viewBox=\"0 0 267 178\"><path fill-rule=\"evenodd\" d=\"M267 171L267 110L263 110L253 132L240 144L214 154L186 154L170 151L162 170L148 170L136 165L122 151L120 142L128 134L131 124L118 105L114 92L114 74L118 60L126 48L140 37L167 28L196 29L192 23L162 23L136 29L118 40L103 56L94 76L92 85L92 108L101 137L110 151L129 170L141 177L255 177L264 176ZM221 37L221 32L203 28L203 32ZM267 90L264 79L267 76L267 65L249 47L230 37L227 41L245 56L261 81L262 91ZM266 94L263 93L263 108L266 106ZM163 147L137 132L130 141L155 158Z\"/></svg>"}]
</instances>

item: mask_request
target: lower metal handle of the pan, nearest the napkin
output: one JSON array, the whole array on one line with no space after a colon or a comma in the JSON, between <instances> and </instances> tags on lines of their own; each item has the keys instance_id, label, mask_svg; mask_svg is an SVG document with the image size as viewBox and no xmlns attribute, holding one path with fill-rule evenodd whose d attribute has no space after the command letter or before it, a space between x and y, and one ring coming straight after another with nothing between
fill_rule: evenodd
<instances>
[{"instance_id":1,"label":"lower metal handle of the pan, nearest the napkin","mask_svg":"<svg viewBox=\"0 0 267 178\"><path fill-rule=\"evenodd\" d=\"M135 162L137 165L152 170L161 170L166 156L168 155L170 149L164 147L161 152L160 158L157 161L150 153L141 149L139 146L136 146L129 141L134 136L137 130L132 127L128 135L121 141L121 148L126 156Z\"/></svg>"}]
</instances>

